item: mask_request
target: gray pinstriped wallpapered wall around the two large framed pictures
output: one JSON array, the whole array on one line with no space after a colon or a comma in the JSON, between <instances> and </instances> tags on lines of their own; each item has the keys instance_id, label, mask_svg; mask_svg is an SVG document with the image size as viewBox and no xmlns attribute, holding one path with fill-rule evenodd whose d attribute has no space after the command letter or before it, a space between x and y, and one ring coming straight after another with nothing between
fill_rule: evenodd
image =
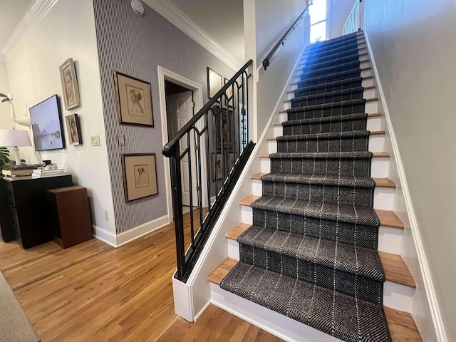
<instances>
[{"instance_id":1,"label":"gray pinstriped wallpapered wall around the two large framed pictures","mask_svg":"<svg viewBox=\"0 0 456 342\"><path fill-rule=\"evenodd\" d=\"M206 67L231 78L234 71L150 7L137 16L130 1L93 0L100 63L106 147L117 234L167 214L157 65L200 83L207 101ZM113 70L150 82L154 128L119 125ZM118 134L125 146L118 146ZM121 153L155 152L158 195L125 203Z\"/></svg>"}]
</instances>

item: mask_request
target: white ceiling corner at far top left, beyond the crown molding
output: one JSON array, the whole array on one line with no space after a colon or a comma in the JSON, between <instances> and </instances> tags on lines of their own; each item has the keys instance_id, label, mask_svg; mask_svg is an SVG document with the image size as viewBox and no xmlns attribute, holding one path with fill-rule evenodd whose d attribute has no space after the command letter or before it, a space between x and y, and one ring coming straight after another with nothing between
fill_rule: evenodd
<instances>
[{"instance_id":1,"label":"white ceiling corner at far top left, beyond the crown molding","mask_svg":"<svg viewBox=\"0 0 456 342\"><path fill-rule=\"evenodd\" d=\"M0 0L0 49L35 0Z\"/></svg>"}]
</instances>

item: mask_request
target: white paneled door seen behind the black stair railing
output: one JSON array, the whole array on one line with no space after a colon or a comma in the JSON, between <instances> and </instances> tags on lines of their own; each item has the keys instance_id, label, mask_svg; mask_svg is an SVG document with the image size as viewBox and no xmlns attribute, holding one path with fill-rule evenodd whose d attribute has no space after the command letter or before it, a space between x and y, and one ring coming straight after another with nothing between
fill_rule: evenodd
<instances>
[{"instance_id":1,"label":"white paneled door seen behind the black stair railing","mask_svg":"<svg viewBox=\"0 0 456 342\"><path fill-rule=\"evenodd\" d=\"M180 131L182 127L192 118L193 108L192 108L192 92L185 91L184 93L177 93L172 95L166 95L166 111L168 118L168 139L171 140L177 132ZM196 163L196 153L195 153L195 138L192 135L190 137L190 157L191 157L191 170L192 170L192 197L193 197L193 207L198 206L197 202L197 163ZM179 142L180 152L187 148L187 137L182 138ZM181 175L182 175L182 204L190 206L190 177L188 174L189 170L189 160L185 156L180 162Z\"/></svg>"}]
</instances>

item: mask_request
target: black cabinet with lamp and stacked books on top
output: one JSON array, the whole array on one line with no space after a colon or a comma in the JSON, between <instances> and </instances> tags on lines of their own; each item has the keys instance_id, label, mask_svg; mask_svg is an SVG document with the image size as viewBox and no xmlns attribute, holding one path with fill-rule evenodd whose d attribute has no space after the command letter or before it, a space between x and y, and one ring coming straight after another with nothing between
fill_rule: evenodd
<instances>
[{"instance_id":1,"label":"black cabinet with lamp and stacked books on top","mask_svg":"<svg viewBox=\"0 0 456 342\"><path fill-rule=\"evenodd\" d=\"M73 185L71 175L36 179L0 179L0 231L29 248L52 240L46 190Z\"/></svg>"}]
</instances>

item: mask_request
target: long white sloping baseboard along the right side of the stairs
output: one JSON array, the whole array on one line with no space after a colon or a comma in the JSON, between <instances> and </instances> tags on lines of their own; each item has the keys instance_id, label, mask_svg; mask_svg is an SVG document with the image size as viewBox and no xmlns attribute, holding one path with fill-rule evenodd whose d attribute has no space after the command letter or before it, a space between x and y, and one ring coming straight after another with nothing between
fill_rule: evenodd
<instances>
[{"instance_id":1,"label":"long white sloping baseboard along the right side of the stairs","mask_svg":"<svg viewBox=\"0 0 456 342\"><path fill-rule=\"evenodd\" d=\"M418 264L420 265L420 272L421 272L420 275L423 278L423 284L425 287L427 301L428 301L429 308L430 308L430 316L432 317L432 321L434 323L435 334L437 335L437 341L447 342L445 328L442 323L440 309L438 306L437 297L435 295L434 285L432 284L432 277L430 275L430 269L427 264L427 259L426 259L425 251L423 248L423 242L421 240L420 232L418 230L418 222L417 222L417 219L415 216L415 210L413 209L412 199L410 197L410 191L408 190L407 179L405 178L405 172L404 172L402 158L400 157L398 142L395 138L393 123L391 122L391 115L388 110L388 104L386 103L385 93L383 92L383 88L380 83L377 66L375 64L375 58L373 57L371 43L369 41L368 32L366 30L364 30L364 36L366 38L366 45L368 48L369 57L371 58L372 69L373 69L373 72L375 75L375 80L377 82L378 95L380 97L380 101L383 103L383 113L385 115L388 133L390 135L390 140L391 140L390 142L391 142L391 147L393 150L392 152L393 152L395 164L396 164L396 167L398 170L400 187L402 188L402 191L403 191L405 207L407 208L407 212L408 212L408 218L410 221L410 229L412 232L413 242L415 244L416 253L418 255ZM417 279L415 279L415 281L417 281ZM419 283L419 282L417 281L417 283ZM423 306L423 307L426 307L426 306ZM415 323L417 323L418 330L420 331L420 326L418 326L419 321L415 320Z\"/></svg>"}]
</instances>

